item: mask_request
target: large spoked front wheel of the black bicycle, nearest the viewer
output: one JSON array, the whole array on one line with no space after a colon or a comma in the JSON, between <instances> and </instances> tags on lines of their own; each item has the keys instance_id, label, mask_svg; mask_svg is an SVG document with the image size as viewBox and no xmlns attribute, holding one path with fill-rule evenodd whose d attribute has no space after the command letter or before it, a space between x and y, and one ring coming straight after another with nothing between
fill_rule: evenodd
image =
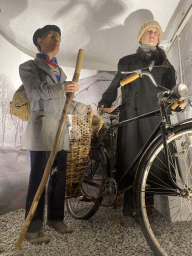
<instances>
[{"instance_id":1,"label":"large spoked front wheel of the black bicycle, nearest the viewer","mask_svg":"<svg viewBox=\"0 0 192 256\"><path fill-rule=\"evenodd\" d=\"M159 159L162 160L160 154L164 154L161 136L147 149L136 174L136 215L151 250L157 256L192 255L192 143L189 143L189 136L192 138L191 120L175 126L172 137L167 139L172 175L176 184L183 189L182 194L178 194L178 190L165 180L165 167L163 181L157 178L158 174L154 171L159 166L162 168L159 162ZM154 225L160 228L159 236L154 232Z\"/></svg>"}]
</instances>

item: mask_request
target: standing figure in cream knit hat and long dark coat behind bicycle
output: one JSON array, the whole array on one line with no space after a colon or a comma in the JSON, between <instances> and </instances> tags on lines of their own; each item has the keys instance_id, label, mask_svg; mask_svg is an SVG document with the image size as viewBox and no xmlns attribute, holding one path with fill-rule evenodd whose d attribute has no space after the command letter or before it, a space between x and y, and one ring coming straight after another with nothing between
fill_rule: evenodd
<instances>
[{"instance_id":1,"label":"standing figure in cream knit hat and long dark coat behind bicycle","mask_svg":"<svg viewBox=\"0 0 192 256\"><path fill-rule=\"evenodd\" d=\"M111 111L111 104L116 100L117 88L120 81L127 77L121 71L134 71L142 69L150 72L157 84L171 89L176 84L175 70L168 61L165 52L159 48L162 38L162 29L158 22L151 20L145 22L139 31L137 52L119 60L118 72L108 89L103 93L98 103L98 113L103 110ZM120 107L120 121L133 118L147 112L154 111L157 106L157 88L146 76L121 87L122 105ZM185 107L186 102L180 104ZM160 116L139 120L118 130L117 163L116 170L119 177L128 169L142 146L160 122ZM126 176L126 186L133 184L136 168ZM133 225L131 192L124 194L122 225ZM157 231L158 232L158 231Z\"/></svg>"}]
</instances>

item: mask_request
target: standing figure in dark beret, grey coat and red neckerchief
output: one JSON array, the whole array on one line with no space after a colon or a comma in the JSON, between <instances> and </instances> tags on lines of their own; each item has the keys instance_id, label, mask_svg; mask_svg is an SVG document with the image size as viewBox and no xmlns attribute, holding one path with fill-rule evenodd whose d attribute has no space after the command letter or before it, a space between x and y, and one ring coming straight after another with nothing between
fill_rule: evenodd
<instances>
[{"instance_id":1,"label":"standing figure in dark beret, grey coat and red neckerchief","mask_svg":"<svg viewBox=\"0 0 192 256\"><path fill-rule=\"evenodd\" d=\"M21 80L31 99L31 115L26 128L23 148L30 151L31 173L26 199L27 216L35 193L41 182L66 101L66 93L76 92L79 85L66 81L66 75L58 66L56 54L59 52L61 31L55 25L46 25L33 35L33 43L40 53L35 60L29 60L19 67ZM90 106L72 101L70 114L85 115L92 111ZM47 195L47 224L59 233L70 233L64 220L64 200L66 184L66 162L69 149L70 126L67 120L55 159L58 168L50 176ZM54 163L54 164L55 164ZM28 227L26 239L31 243L49 242L42 232L45 191L43 192L34 217Z\"/></svg>"}]
</instances>

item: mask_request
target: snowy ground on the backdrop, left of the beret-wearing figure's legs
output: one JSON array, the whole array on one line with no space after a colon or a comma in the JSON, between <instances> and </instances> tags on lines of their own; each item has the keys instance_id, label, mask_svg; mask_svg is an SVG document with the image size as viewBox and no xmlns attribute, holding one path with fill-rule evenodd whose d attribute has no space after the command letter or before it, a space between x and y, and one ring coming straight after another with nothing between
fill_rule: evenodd
<instances>
[{"instance_id":1,"label":"snowy ground on the backdrop, left of the beret-wearing figure's legs","mask_svg":"<svg viewBox=\"0 0 192 256\"><path fill-rule=\"evenodd\" d=\"M29 173L29 151L0 146L0 215L25 206Z\"/></svg>"}]
</instances>

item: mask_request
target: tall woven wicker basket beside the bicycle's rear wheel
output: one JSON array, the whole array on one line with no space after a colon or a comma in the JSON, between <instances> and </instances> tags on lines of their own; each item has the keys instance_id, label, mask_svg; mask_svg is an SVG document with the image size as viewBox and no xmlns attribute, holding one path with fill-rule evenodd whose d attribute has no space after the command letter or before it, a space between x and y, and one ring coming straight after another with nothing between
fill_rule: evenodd
<instances>
[{"instance_id":1,"label":"tall woven wicker basket beside the bicycle's rear wheel","mask_svg":"<svg viewBox=\"0 0 192 256\"><path fill-rule=\"evenodd\" d=\"M72 117L70 149L67 155L66 198L81 195L92 135L99 131L103 120L93 114Z\"/></svg>"}]
</instances>

